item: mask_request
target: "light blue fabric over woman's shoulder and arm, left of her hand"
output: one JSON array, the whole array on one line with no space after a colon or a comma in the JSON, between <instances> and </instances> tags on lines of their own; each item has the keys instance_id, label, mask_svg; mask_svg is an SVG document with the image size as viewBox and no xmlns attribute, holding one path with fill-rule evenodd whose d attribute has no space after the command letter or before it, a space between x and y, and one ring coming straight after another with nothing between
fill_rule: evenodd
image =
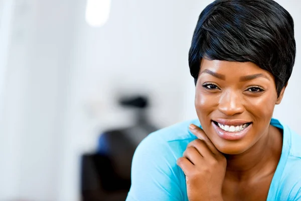
<instances>
[{"instance_id":1,"label":"light blue fabric over woman's shoulder and arm, left of her hand","mask_svg":"<svg viewBox=\"0 0 301 201\"><path fill-rule=\"evenodd\" d=\"M127 200L187 200L186 180L177 159L196 139L186 121L149 134L135 150ZM146 197L147 198L146 198Z\"/></svg>"}]
</instances>

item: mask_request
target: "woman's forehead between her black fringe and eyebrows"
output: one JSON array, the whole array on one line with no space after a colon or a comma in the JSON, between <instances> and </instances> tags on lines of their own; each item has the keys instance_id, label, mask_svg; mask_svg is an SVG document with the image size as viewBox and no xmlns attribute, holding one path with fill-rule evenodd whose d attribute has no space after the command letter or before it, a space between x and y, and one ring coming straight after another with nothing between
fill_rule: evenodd
<instances>
[{"instance_id":1,"label":"woman's forehead between her black fringe and eyebrows","mask_svg":"<svg viewBox=\"0 0 301 201\"><path fill-rule=\"evenodd\" d=\"M237 61L221 61L202 59L200 66L200 74L205 69L225 75L225 77L240 77L251 74L264 74L272 78L273 75L268 71L260 68L252 62L237 62Z\"/></svg>"}]
</instances>

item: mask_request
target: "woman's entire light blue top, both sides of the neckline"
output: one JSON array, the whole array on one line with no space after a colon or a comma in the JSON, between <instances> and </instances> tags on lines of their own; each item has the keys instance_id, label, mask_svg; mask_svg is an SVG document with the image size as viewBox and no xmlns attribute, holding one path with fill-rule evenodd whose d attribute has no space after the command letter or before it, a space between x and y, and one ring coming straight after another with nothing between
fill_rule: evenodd
<instances>
[{"instance_id":1,"label":"woman's entire light blue top, both sides of the neckline","mask_svg":"<svg viewBox=\"0 0 301 201\"><path fill-rule=\"evenodd\" d=\"M139 144L126 201L188 200L185 175L176 162L196 139L190 124L201 127L199 120L179 123L148 135ZM283 130L283 146L267 200L301 200L301 136L278 120L270 124Z\"/></svg>"}]
</instances>

